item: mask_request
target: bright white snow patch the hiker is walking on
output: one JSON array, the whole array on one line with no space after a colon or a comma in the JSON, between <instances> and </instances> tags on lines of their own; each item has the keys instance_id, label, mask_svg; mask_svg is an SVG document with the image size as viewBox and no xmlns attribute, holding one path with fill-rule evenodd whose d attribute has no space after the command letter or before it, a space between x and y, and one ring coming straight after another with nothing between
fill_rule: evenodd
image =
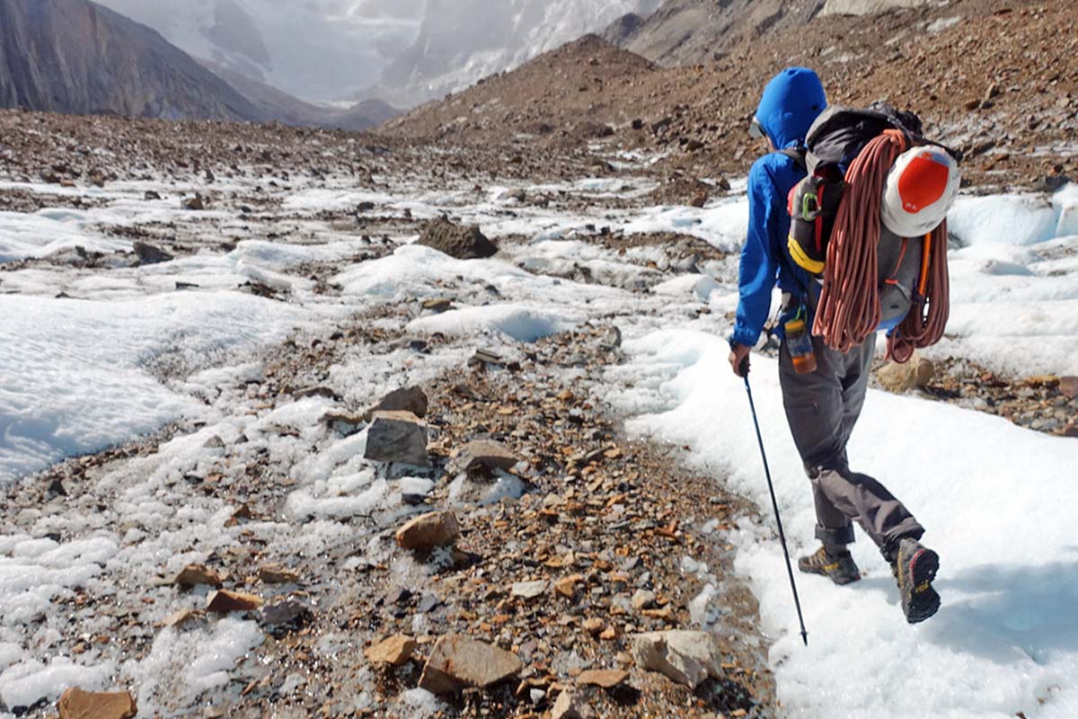
<instances>
[{"instance_id":1,"label":"bright white snow patch the hiker is walking on","mask_svg":"<svg viewBox=\"0 0 1078 719\"><path fill-rule=\"evenodd\" d=\"M691 447L691 464L770 508L748 402L725 343L672 330L631 342L611 370L633 390L610 400L628 428ZM786 426L773 360L750 375L791 552L811 551L815 513ZM1078 576L1068 468L1078 443L951 405L870 391L851 444L856 471L879 478L928 528L939 551L939 614L908 626L875 547L853 545L867 577L851 587L801 576L810 646L802 648L786 569L768 524L736 537L775 638L779 699L796 716L1065 717L1078 713ZM839 680L838 678L841 678ZM911 692L910 682L917 691ZM1044 704L1042 704L1044 703Z\"/></svg>"}]
</instances>

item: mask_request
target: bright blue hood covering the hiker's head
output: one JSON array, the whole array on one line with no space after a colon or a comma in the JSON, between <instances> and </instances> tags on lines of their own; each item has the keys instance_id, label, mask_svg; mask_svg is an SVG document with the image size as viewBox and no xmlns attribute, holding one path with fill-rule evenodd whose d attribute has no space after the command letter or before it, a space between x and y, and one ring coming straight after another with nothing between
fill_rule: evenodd
<instances>
[{"instance_id":1,"label":"bright blue hood covering the hiker's head","mask_svg":"<svg viewBox=\"0 0 1078 719\"><path fill-rule=\"evenodd\" d=\"M756 119L775 148L803 144L805 135L827 108L819 77L808 68L786 68L763 91Z\"/></svg>"}]
</instances>

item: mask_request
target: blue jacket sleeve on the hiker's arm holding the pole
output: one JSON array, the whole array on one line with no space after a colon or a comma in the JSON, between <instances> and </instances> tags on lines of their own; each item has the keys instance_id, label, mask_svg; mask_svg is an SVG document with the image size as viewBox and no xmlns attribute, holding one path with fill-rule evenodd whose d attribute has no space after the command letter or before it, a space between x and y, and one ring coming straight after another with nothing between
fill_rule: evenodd
<instances>
[{"instance_id":1,"label":"blue jacket sleeve on the hiker's arm holding the pole","mask_svg":"<svg viewBox=\"0 0 1078 719\"><path fill-rule=\"evenodd\" d=\"M778 272L775 257L782 237L778 218L785 212L785 197L778 196L775 181L763 161L748 175L748 236L742 248L737 285L741 300L731 343L755 347L771 312L771 294Z\"/></svg>"}]
</instances>

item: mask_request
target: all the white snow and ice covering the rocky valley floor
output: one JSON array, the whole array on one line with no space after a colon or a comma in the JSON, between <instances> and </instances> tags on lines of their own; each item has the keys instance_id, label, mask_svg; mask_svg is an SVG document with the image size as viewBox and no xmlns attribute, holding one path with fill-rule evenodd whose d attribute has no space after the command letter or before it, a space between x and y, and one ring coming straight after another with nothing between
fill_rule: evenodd
<instances>
[{"instance_id":1,"label":"all the white snow and ice covering the rocky valley floor","mask_svg":"<svg viewBox=\"0 0 1078 719\"><path fill-rule=\"evenodd\" d=\"M146 190L175 194L176 188L20 186L81 193L105 205L0 213L4 262L75 246L128 249L100 232L103 224L190 221L170 198L142 199ZM651 186L641 178L582 178L525 189L603 198L642 196ZM743 192L743 184L735 186ZM331 368L326 381L343 388L351 406L452 372L476 346L512 357L545 334L589 321L616 323L625 335L627 359L609 369L600 399L632 417L633 432L689 446L690 461L716 478L729 474L735 490L768 506L744 388L725 365L727 314L737 300L736 259L705 264L711 277L663 274L647 266L665 261L660 248L621 253L586 238L593 232L588 225L676 232L734 252L745 230L744 195L735 192L702 209L592 212L521 204L502 186L480 194L470 188L431 190L395 180L370 193L345 179L301 183L279 191L279 199L286 212L299 217L290 222L302 227L303 245L252 237L229 211L212 210L223 230L207 238L205 251L172 262L95 271L39 265L0 273L0 482L65 456L123 443L174 419L205 423L155 454L96 478L97 489L110 496L109 511L135 528L118 529L119 523L107 522L91 506L42 514L33 522L33 536L0 536L0 699L8 706L55 699L66 686L107 689L119 680L135 689L140 710L149 716L166 697L193 702L198 692L225 686L237 660L258 646L261 633L253 623L220 620L184 633L156 632L139 661L118 662L97 649L70 660L55 651L59 637L47 628L55 600L81 586L111 587L118 605L155 596L156 605L140 610L147 624L204 599L184 595L178 600L168 587L118 590L114 578L140 578L132 584L138 586L146 577L205 561L237 540L241 529L227 523L236 508L177 488L185 473L212 466L216 451L207 443L215 437L231 444L243 435L238 457L265 452L290 468L294 486L284 508L287 521L250 523L246 530L302 555L316 556L342 543L365 544L372 555L387 552L377 538L338 520L400 511L401 494L425 494L429 482L381 478L361 459L363 432L341 438L319 421L333 406L331 400L308 398L265 410L245 390L248 379L261 376L261 363L252 360L258 348L280 342L293 328L355 310L456 299L451 312L424 314L397 328L409 335L448 337L438 352L416 356L402 348L354 355ZM447 212L479 223L494 237L515 239L496 259L461 262L413 245L414 235L399 236L391 238L398 247L387 257L356 262L359 239L334 232L315 216L322 208L351 208L364 201L388 216ZM948 338L931 354L1022 376L1078 373L1076 212L1074 189L1051 201L964 198L952 217L960 245L951 253L952 321ZM236 248L217 250L223 239L237 243ZM308 261L338 264L333 277L342 288L338 296L315 293L312 282L293 272ZM592 282L568 279L579 267L588 269ZM238 291L248 280L287 290L290 302ZM177 282L197 288L178 290ZM59 292L69 296L56 298ZM710 314L700 315L704 306ZM162 372L163 367L183 372L177 376ZM811 494L783 418L774 363L757 358L754 367L788 534L798 549L806 549L813 543ZM1068 502L1078 442L946 404L872 392L851 455L857 469L884 480L928 527L925 539L942 557L938 586L944 605L932 621L907 626L886 566L862 540L855 545L867 571L859 584L840 589L799 578L811 637L804 649L771 525L743 521L734 536L736 566L750 578L765 631L775 640L771 659L787 711L896 718L1078 715L1078 542ZM63 541L49 538L61 530ZM694 617L705 613L704 605L695 607ZM41 617L45 624L32 628ZM178 659L196 648L197 662ZM357 702L362 706L361 699ZM417 715L437 709L431 697L416 692L398 704Z\"/></svg>"}]
</instances>

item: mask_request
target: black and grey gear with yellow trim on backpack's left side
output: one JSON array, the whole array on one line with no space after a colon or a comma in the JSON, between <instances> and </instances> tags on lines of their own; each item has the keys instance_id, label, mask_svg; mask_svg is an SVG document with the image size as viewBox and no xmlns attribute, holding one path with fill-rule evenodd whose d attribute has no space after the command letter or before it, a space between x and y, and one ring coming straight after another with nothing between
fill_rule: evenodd
<instances>
[{"instance_id":1,"label":"black and grey gear with yellow trim on backpack's left side","mask_svg":"<svg viewBox=\"0 0 1078 719\"><path fill-rule=\"evenodd\" d=\"M838 168L821 165L790 190L787 249L793 262L812 275L824 274L827 241L831 237L844 189Z\"/></svg>"}]
</instances>

